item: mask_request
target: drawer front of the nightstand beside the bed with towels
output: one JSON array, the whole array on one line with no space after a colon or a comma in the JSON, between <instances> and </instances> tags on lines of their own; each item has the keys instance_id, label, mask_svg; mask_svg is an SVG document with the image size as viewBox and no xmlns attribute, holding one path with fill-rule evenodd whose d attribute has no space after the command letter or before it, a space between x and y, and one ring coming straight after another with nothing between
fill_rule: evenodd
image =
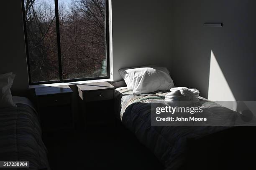
<instances>
[{"instance_id":1,"label":"drawer front of the nightstand beside the bed with towels","mask_svg":"<svg viewBox=\"0 0 256 170\"><path fill-rule=\"evenodd\" d=\"M114 96L114 90L92 90L83 92L83 99L86 102L92 102L92 101L100 101L100 100L110 100L113 99Z\"/></svg>"}]
</instances>

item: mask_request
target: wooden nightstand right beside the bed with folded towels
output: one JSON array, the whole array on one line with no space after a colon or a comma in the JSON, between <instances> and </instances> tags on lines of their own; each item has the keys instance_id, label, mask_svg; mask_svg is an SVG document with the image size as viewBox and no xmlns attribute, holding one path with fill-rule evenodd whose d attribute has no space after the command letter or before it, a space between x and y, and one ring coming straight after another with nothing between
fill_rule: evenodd
<instances>
[{"instance_id":1,"label":"wooden nightstand right beside the bed with folded towels","mask_svg":"<svg viewBox=\"0 0 256 170\"><path fill-rule=\"evenodd\" d=\"M115 87L108 82L95 82L77 85L77 88L85 127L113 124Z\"/></svg>"}]
</instances>

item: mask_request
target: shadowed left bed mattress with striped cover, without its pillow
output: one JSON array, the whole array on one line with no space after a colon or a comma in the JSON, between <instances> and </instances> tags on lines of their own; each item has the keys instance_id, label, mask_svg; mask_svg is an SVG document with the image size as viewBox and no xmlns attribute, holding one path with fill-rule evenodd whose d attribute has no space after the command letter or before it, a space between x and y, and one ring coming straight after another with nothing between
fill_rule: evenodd
<instances>
[{"instance_id":1,"label":"shadowed left bed mattress with striped cover, without its pillow","mask_svg":"<svg viewBox=\"0 0 256 170\"><path fill-rule=\"evenodd\" d=\"M29 161L31 170L49 170L47 150L33 104L25 97L13 97L13 101L17 107L0 108L0 160Z\"/></svg>"}]
</instances>

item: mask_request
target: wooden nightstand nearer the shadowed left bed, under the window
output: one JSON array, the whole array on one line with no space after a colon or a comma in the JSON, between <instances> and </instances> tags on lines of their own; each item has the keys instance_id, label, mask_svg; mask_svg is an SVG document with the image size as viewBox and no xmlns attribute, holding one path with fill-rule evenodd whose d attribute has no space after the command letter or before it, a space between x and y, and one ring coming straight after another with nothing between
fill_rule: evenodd
<instances>
[{"instance_id":1,"label":"wooden nightstand nearer the shadowed left bed, under the window","mask_svg":"<svg viewBox=\"0 0 256 170\"><path fill-rule=\"evenodd\" d=\"M42 130L73 131L72 90L68 85L35 88Z\"/></svg>"}]
</instances>

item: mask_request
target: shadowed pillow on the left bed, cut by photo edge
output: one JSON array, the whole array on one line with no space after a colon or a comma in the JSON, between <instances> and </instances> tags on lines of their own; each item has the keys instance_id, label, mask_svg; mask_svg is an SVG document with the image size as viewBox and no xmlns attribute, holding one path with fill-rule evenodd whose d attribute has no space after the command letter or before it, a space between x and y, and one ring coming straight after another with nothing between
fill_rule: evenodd
<instances>
[{"instance_id":1,"label":"shadowed pillow on the left bed, cut by photo edge","mask_svg":"<svg viewBox=\"0 0 256 170\"><path fill-rule=\"evenodd\" d=\"M12 72L0 75L0 107L13 107L13 96L10 87L13 85L15 74Z\"/></svg>"}]
</instances>

